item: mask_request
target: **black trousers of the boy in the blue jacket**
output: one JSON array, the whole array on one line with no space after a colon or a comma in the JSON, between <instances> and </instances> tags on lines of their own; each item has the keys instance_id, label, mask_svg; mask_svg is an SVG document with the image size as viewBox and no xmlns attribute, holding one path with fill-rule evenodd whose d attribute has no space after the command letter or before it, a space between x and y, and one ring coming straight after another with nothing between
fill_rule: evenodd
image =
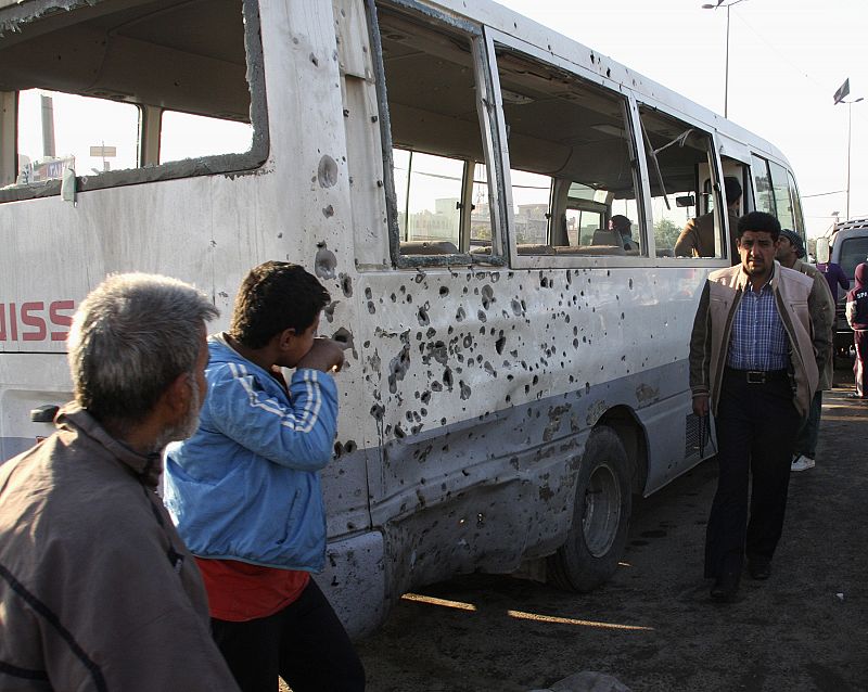
<instances>
[{"instance_id":1,"label":"black trousers of the boy in the blue jacket","mask_svg":"<svg viewBox=\"0 0 868 692\"><path fill-rule=\"evenodd\" d=\"M276 692L278 675L293 692L360 692L365 670L331 604L311 579L297 601L268 617L212 632L243 692Z\"/></svg>"}]
</instances>

